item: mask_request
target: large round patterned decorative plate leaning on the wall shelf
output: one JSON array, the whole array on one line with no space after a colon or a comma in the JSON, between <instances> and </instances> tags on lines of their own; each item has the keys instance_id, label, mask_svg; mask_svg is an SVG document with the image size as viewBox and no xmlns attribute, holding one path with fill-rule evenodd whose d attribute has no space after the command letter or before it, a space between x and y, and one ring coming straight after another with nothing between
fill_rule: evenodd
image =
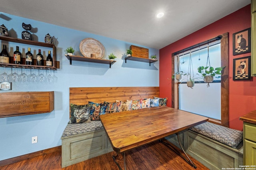
<instances>
[{"instance_id":1,"label":"large round patterned decorative plate leaning on the wall shelf","mask_svg":"<svg viewBox=\"0 0 256 170\"><path fill-rule=\"evenodd\" d=\"M91 54L95 54L96 59L101 59L105 53L102 43L93 38L83 39L80 42L79 49L84 57L91 57Z\"/></svg>"}]
</instances>

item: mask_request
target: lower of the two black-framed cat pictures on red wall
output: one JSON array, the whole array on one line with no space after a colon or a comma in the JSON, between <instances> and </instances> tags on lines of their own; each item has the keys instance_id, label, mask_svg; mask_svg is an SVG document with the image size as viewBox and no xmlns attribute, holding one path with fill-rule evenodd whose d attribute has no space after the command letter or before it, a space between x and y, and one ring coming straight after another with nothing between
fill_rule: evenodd
<instances>
[{"instance_id":1,"label":"lower of the two black-framed cat pictures on red wall","mask_svg":"<svg viewBox=\"0 0 256 170\"><path fill-rule=\"evenodd\" d=\"M251 80L251 56L233 59L233 80Z\"/></svg>"}]
</instances>

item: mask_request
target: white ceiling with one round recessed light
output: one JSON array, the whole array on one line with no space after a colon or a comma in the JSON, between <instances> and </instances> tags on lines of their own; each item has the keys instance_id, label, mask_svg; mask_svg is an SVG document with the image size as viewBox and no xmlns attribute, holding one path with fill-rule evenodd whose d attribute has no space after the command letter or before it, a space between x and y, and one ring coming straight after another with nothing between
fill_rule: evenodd
<instances>
[{"instance_id":1,"label":"white ceiling with one round recessed light","mask_svg":"<svg viewBox=\"0 0 256 170\"><path fill-rule=\"evenodd\" d=\"M248 4L250 0L0 0L0 12L161 49ZM159 11L164 17L155 17Z\"/></svg>"}]
</instances>

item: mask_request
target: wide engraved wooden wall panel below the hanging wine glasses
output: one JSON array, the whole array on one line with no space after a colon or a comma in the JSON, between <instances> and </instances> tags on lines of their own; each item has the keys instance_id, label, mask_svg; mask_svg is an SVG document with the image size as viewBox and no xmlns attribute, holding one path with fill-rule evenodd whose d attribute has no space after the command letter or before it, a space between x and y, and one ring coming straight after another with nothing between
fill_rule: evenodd
<instances>
[{"instance_id":1,"label":"wide engraved wooden wall panel below the hanging wine glasses","mask_svg":"<svg viewBox=\"0 0 256 170\"><path fill-rule=\"evenodd\" d=\"M0 93L0 117L49 113L53 109L53 91Z\"/></svg>"}]
</instances>

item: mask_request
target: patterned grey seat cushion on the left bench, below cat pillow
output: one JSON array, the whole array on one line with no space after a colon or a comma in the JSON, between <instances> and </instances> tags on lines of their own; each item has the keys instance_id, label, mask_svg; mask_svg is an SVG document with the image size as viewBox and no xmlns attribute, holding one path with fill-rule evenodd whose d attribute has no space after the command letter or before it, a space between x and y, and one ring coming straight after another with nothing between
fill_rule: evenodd
<instances>
[{"instance_id":1,"label":"patterned grey seat cushion on the left bench, below cat pillow","mask_svg":"<svg viewBox=\"0 0 256 170\"><path fill-rule=\"evenodd\" d=\"M62 133L62 137L78 135L81 133L102 130L101 121L91 121L90 123L68 124Z\"/></svg>"}]
</instances>

